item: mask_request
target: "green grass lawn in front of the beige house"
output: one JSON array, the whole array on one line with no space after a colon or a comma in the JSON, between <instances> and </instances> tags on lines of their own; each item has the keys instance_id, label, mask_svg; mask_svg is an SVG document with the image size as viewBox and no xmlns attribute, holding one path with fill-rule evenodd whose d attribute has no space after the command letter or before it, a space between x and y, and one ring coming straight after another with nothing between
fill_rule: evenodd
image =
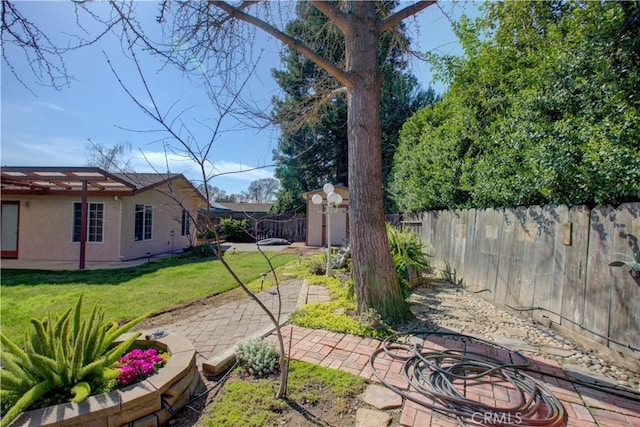
<instances>
[{"instance_id":1,"label":"green grass lawn in front of the beige house","mask_svg":"<svg viewBox=\"0 0 640 427\"><path fill-rule=\"evenodd\" d=\"M268 255L276 268L298 258ZM257 279L258 287L260 273L269 270L258 252L228 254L225 259L245 283ZM121 321L237 287L219 261L198 258L163 259L116 270L2 270L1 279L0 325L18 343L31 318L43 318L49 311L61 313L80 294L83 311L99 304L109 320Z\"/></svg>"}]
</instances>

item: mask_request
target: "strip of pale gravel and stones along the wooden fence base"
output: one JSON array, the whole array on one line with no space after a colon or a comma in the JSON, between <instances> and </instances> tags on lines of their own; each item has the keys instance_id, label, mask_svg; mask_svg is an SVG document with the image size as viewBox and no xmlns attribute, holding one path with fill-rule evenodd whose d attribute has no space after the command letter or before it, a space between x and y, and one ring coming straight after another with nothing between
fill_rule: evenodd
<instances>
[{"instance_id":1,"label":"strip of pale gravel and stones along the wooden fence base","mask_svg":"<svg viewBox=\"0 0 640 427\"><path fill-rule=\"evenodd\" d=\"M415 289L409 303L416 318L400 328L400 332L425 328L451 330L496 342L525 355L552 359L570 371L640 392L640 373L615 366L533 319L500 310L461 287L433 281Z\"/></svg>"}]
</instances>

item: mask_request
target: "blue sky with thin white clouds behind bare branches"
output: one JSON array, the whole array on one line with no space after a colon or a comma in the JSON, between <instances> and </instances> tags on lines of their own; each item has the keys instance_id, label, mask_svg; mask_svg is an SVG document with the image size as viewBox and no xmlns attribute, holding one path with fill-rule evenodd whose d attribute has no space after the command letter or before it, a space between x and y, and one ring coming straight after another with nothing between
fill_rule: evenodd
<instances>
[{"instance_id":1,"label":"blue sky with thin white clouds behind bare branches","mask_svg":"<svg viewBox=\"0 0 640 427\"><path fill-rule=\"evenodd\" d=\"M68 40L68 33L78 34L73 7L67 2L18 2L23 14L31 18L54 40ZM99 4L96 7L105 7ZM440 3L440 7L458 17L473 13L477 3ZM155 2L137 4L142 19L157 15ZM83 21L86 22L86 21ZM415 18L406 21L410 27L413 47L419 51L459 53L459 45L450 28L449 19L440 8L430 6ZM91 31L91 26L86 27ZM59 37L59 38L58 38ZM263 49L257 72L244 95L257 103L262 111L270 111L270 100L278 95L278 86L270 70L280 66L281 44L258 34L258 49ZM64 60L74 77L70 87L55 90L34 82L24 56L17 50L7 50L14 67L35 95L25 89L2 63L1 161L3 166L85 166L89 140L105 146L127 143L132 149L129 161L137 172L166 171L167 156L158 125L149 119L119 86L106 57L125 84L149 105L149 99L127 59L120 41L113 35L94 46L69 52ZM106 56L105 56L106 55ZM172 67L161 67L158 59L141 56L144 73L161 109L166 112L187 110L181 117L200 140L208 140L213 117L211 103L204 96L201 83L194 76L187 78ZM161 69L162 68L162 69ZM161 70L160 70L161 69ZM158 71L160 70L160 71ZM432 80L428 67L414 61L412 71L423 84ZM443 90L434 85L438 92ZM173 107L172 107L173 106ZM216 172L238 171L272 164L272 151L277 147L275 128L262 131L240 129L234 120L223 122L224 132L216 140L209 157ZM169 154L169 169L184 173L198 183L197 168L191 162ZM246 190L251 181L273 176L268 167L245 173L214 178L210 183L227 193Z\"/></svg>"}]
</instances>

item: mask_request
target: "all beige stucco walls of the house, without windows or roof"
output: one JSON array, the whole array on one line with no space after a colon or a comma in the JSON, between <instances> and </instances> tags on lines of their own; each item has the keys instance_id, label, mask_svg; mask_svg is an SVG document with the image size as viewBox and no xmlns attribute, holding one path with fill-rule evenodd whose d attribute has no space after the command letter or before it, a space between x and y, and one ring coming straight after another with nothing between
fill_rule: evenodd
<instances>
[{"instance_id":1,"label":"all beige stucco walls of the house, without windows or roof","mask_svg":"<svg viewBox=\"0 0 640 427\"><path fill-rule=\"evenodd\" d=\"M186 181L177 179L172 188L192 218L197 209L205 207ZM195 236L194 221L190 221L190 236L181 235L182 207L166 194L166 184L141 191L134 196L97 196L89 192L89 203L103 203L103 241L87 241L86 261L126 261L151 255L181 251L190 246ZM18 259L25 261L76 261L80 258L80 243L72 241L73 203L79 195L3 195L3 202L19 203ZM134 240L135 205L153 206L152 239ZM171 236L173 230L173 236Z\"/></svg>"}]
</instances>

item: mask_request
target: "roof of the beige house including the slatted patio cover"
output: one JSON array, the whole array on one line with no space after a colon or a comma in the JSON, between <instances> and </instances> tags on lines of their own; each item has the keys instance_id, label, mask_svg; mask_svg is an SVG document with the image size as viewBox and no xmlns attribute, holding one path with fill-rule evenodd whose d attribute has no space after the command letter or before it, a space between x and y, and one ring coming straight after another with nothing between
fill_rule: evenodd
<instances>
[{"instance_id":1,"label":"roof of the beige house including the slatted patio cover","mask_svg":"<svg viewBox=\"0 0 640 427\"><path fill-rule=\"evenodd\" d=\"M203 197L182 174L111 173L96 167L3 166L0 189L3 194L68 195L82 193L86 182L90 194L132 196L179 178Z\"/></svg>"}]
</instances>

